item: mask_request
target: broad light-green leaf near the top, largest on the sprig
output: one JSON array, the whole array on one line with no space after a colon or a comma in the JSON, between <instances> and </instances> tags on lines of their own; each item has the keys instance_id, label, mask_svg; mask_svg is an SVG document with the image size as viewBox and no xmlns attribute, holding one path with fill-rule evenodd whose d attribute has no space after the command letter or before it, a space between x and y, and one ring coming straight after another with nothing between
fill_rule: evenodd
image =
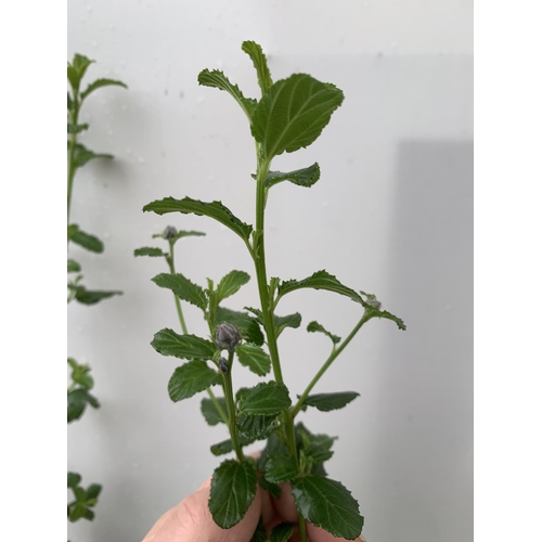
<instances>
[{"instance_id":1,"label":"broad light-green leaf near the top, largest on the sprig","mask_svg":"<svg viewBox=\"0 0 542 542\"><path fill-rule=\"evenodd\" d=\"M276 81L256 105L251 132L268 160L309 146L343 103L343 91L307 74Z\"/></svg>"}]
</instances>

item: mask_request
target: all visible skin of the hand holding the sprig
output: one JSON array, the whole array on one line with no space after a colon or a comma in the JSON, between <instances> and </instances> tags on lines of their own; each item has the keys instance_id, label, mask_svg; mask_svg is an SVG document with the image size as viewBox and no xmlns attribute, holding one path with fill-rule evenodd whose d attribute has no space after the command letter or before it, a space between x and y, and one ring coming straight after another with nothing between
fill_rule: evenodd
<instances>
[{"instance_id":1,"label":"all visible skin of the hand holding the sprig","mask_svg":"<svg viewBox=\"0 0 542 542\"><path fill-rule=\"evenodd\" d=\"M259 486L256 496L245 517L228 530L220 529L210 515L207 502L210 492L208 478L194 493L183 499L177 506L166 512L156 521L143 542L250 542L260 516L270 532L271 528L283 521L297 524L298 516L288 483L280 483L281 499L274 499ZM297 530L297 529L296 529ZM346 542L307 524L310 542ZM299 542L297 532L291 542ZM363 537L356 542L366 542Z\"/></svg>"}]
</instances>

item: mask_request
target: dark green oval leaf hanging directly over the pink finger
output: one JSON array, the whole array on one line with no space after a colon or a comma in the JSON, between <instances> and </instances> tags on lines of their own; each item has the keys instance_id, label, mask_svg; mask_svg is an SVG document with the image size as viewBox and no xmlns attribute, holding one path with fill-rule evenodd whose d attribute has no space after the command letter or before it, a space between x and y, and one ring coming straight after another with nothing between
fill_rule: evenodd
<instances>
[{"instance_id":1,"label":"dark green oval leaf hanging directly over the pink finger","mask_svg":"<svg viewBox=\"0 0 542 542\"><path fill-rule=\"evenodd\" d=\"M210 482L209 511L222 529L237 525L256 495L256 466L253 461L224 461Z\"/></svg>"}]
</instances>

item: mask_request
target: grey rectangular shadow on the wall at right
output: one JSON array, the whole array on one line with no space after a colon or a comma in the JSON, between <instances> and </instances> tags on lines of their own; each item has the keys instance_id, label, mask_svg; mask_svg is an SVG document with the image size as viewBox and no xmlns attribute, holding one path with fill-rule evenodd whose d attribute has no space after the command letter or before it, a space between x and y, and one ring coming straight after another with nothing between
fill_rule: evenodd
<instances>
[{"instance_id":1,"label":"grey rectangular shadow on the wall at right","mask_svg":"<svg viewBox=\"0 0 542 542\"><path fill-rule=\"evenodd\" d=\"M473 163L472 141L398 147L388 295L408 331L380 357L382 542L473 539Z\"/></svg>"}]
</instances>

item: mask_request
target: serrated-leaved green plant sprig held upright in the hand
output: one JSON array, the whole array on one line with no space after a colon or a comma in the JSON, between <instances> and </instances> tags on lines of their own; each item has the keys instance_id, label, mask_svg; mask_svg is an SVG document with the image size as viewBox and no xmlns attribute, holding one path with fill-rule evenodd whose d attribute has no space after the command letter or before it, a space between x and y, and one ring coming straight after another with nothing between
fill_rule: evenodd
<instances>
[{"instance_id":1,"label":"serrated-leaved green plant sprig held upright in the hand","mask_svg":"<svg viewBox=\"0 0 542 542\"><path fill-rule=\"evenodd\" d=\"M310 145L343 103L344 95L334 85L321 82L307 74L294 74L273 82L260 46L245 41L242 49L255 65L262 94L259 100L246 98L219 70L204 69L198 82L228 92L248 119L256 143L256 173L251 176L256 189L255 227L235 217L221 202L166 197L150 203L143 210L158 215L181 212L206 216L234 232L254 261L259 307L233 311L222 305L248 282L249 275L244 271L231 271L217 285L207 280L207 287L204 288L176 273L171 267L170 273L156 276L154 282L171 289L176 298L198 307L208 323L212 340L189 335L185 327L183 335L165 328L156 333L152 346L164 356L188 360L176 369L169 380L168 391L173 401L188 399L214 386L223 390L224 396L216 401L202 401L205 420L210 425L224 423L230 434L228 440L212 446L211 452L215 455L235 454L235 459L223 461L212 476L209 509L221 528L229 529L244 517L255 496L257 483L280 496L279 483L289 482L299 513L296 528L301 541L307 540L306 520L335 537L352 540L363 527L358 503L340 482L327 478L324 469L324 462L333 455L332 446L336 437L313 434L301 422L296 423L296 418L307 408L322 412L341 409L358 396L356 391L317 395L311 395L311 391L366 322L382 318L393 321L400 330L405 327L400 319L382 310L374 295L345 286L325 270L302 280L268 278L264 216L269 191L284 181L310 188L320 179L318 164L283 172L271 170L272 159L282 153ZM143 250L153 249L147 247ZM283 379L278 339L286 327L299 327L301 315L278 315L276 309L285 296L302 288L325 289L345 296L359 305L361 315L344 340L318 322L308 324L307 331L323 333L330 338L331 351L293 403ZM235 392L235 362L259 376L266 376L272 370L273 378ZM257 440L267 440L260 457L247 457L243 448ZM271 540L287 540L292 532L293 526L279 526L271 533ZM254 540L267 539L268 533L260 522Z\"/></svg>"}]
</instances>

